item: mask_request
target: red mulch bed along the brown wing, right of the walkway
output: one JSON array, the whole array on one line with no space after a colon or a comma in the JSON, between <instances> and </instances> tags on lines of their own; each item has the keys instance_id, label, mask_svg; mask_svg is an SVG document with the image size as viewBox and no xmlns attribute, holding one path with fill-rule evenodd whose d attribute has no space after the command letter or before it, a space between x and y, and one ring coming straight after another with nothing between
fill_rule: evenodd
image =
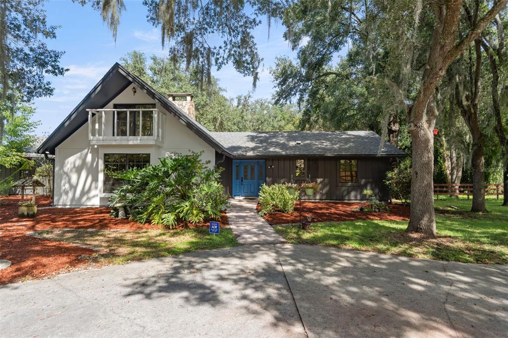
<instances>
[{"instance_id":1,"label":"red mulch bed along the brown wing, right of the walkway","mask_svg":"<svg viewBox=\"0 0 508 338\"><path fill-rule=\"evenodd\" d=\"M409 207L390 204L390 213L378 212L367 213L358 211L361 206L367 206L365 202L320 202L302 201L302 218L312 216L312 222L326 221L356 221L356 220L387 220L408 221ZM300 221L300 202L296 202L292 213L273 213L266 215L264 219L270 224L298 223ZM258 211L261 206L258 204Z\"/></svg>"}]
</instances>

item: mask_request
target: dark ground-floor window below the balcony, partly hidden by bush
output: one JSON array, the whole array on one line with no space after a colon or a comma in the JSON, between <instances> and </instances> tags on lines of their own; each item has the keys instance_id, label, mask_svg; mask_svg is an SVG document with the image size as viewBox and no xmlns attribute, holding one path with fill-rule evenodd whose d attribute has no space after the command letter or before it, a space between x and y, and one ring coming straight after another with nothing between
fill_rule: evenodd
<instances>
[{"instance_id":1,"label":"dark ground-floor window below the balcony, partly hidden by bush","mask_svg":"<svg viewBox=\"0 0 508 338\"><path fill-rule=\"evenodd\" d=\"M104 154L104 193L111 193L123 180L114 173L132 168L144 168L150 164L150 154Z\"/></svg>"}]
</instances>

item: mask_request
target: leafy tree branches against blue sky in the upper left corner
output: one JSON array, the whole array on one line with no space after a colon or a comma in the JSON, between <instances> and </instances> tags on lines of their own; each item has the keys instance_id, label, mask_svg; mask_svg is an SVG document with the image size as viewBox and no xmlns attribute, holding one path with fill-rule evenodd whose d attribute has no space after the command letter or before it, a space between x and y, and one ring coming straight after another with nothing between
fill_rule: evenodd
<instances>
[{"instance_id":1,"label":"leafy tree branches against blue sky in the upper left corner","mask_svg":"<svg viewBox=\"0 0 508 338\"><path fill-rule=\"evenodd\" d=\"M3 0L0 5L0 86L4 103L31 102L52 95L46 75L62 76L67 71L59 65L63 52L49 49L45 42L56 38L58 26L47 24L44 2Z\"/></svg>"}]
</instances>

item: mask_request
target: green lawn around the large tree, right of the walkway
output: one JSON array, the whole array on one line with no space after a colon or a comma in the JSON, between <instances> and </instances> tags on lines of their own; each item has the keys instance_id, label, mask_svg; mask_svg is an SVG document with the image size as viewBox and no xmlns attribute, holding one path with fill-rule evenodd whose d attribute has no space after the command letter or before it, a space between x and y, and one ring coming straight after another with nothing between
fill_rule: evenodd
<instances>
[{"instance_id":1,"label":"green lawn around the large tree, right of the walkway","mask_svg":"<svg viewBox=\"0 0 508 338\"><path fill-rule=\"evenodd\" d=\"M405 221L347 221L275 230L289 243L333 246L409 257L468 263L508 263L508 208L487 199L489 213L470 213L471 200L439 197L435 200L437 237L405 233ZM450 208L457 207L458 210Z\"/></svg>"}]
</instances>

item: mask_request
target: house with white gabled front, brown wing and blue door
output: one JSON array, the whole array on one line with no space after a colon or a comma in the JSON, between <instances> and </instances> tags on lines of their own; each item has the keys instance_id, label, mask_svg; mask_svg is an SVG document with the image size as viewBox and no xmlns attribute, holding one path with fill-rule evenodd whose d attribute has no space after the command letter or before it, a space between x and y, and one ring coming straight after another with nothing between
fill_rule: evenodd
<instances>
[{"instance_id":1,"label":"house with white gabled front, brown wing and blue door","mask_svg":"<svg viewBox=\"0 0 508 338\"><path fill-rule=\"evenodd\" d=\"M231 196L257 196L263 183L320 183L314 198L387 199L391 163L372 131L210 132L196 122L192 94L157 92L115 63L38 148L55 156L55 206L107 205L120 182L111 173L153 164L172 152L203 152L224 167Z\"/></svg>"}]
</instances>

